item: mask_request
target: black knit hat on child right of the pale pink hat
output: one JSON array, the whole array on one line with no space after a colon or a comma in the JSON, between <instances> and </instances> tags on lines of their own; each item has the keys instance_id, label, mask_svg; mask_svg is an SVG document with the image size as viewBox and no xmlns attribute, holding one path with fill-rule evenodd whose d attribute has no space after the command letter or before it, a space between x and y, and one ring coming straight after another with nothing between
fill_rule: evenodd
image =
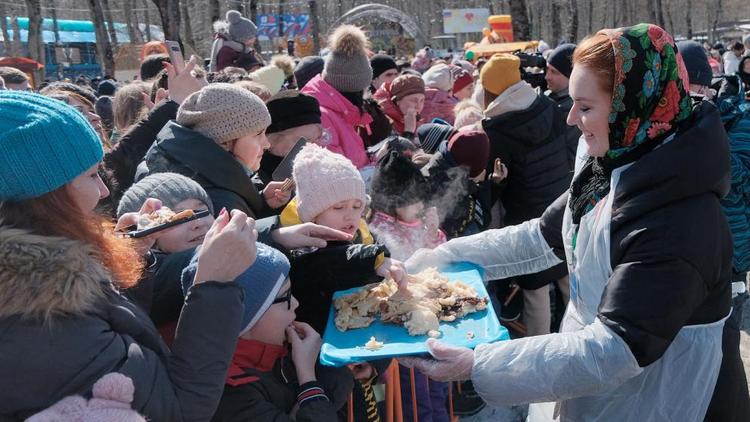
<instances>
[{"instance_id":1,"label":"black knit hat on child right of the pale pink hat","mask_svg":"<svg viewBox=\"0 0 750 422\"><path fill-rule=\"evenodd\" d=\"M372 209L395 215L396 208L424 201L427 192L427 181L417 165L400 153L391 151L380 160L372 176Z\"/></svg>"}]
</instances>

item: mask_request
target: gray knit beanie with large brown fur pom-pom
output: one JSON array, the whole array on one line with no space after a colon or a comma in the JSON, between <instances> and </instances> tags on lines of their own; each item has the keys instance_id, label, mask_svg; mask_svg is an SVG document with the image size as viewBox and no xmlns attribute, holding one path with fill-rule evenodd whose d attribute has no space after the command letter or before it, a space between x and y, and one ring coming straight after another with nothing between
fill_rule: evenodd
<instances>
[{"instance_id":1,"label":"gray knit beanie with large brown fur pom-pom","mask_svg":"<svg viewBox=\"0 0 750 422\"><path fill-rule=\"evenodd\" d=\"M367 36L354 25L336 28L328 38L323 80L339 92L361 92L372 82Z\"/></svg>"}]
</instances>

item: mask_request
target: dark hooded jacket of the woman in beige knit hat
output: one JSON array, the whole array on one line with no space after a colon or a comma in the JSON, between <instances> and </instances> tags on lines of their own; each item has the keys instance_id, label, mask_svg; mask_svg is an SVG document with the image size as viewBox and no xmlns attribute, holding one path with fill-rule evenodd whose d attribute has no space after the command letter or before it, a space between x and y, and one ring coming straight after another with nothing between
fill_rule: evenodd
<instances>
[{"instance_id":1,"label":"dark hooded jacket of the woman in beige knit hat","mask_svg":"<svg viewBox=\"0 0 750 422\"><path fill-rule=\"evenodd\" d=\"M238 209L253 218L273 214L245 166L213 140L174 121L159 132L136 179L164 172L179 173L198 182L217 214L222 208Z\"/></svg>"}]
</instances>

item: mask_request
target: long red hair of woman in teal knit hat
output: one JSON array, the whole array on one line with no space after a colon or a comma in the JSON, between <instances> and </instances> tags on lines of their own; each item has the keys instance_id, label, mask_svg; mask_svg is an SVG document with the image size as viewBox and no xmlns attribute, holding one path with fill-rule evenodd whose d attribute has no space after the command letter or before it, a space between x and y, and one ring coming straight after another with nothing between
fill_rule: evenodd
<instances>
[{"instance_id":1,"label":"long red hair of woman in teal knit hat","mask_svg":"<svg viewBox=\"0 0 750 422\"><path fill-rule=\"evenodd\" d=\"M0 209L3 224L92 245L99 261L112 274L113 283L121 289L135 286L143 273L143 258L132 242L115 236L111 221L82 212L67 185L38 198L4 202Z\"/></svg>"}]
</instances>

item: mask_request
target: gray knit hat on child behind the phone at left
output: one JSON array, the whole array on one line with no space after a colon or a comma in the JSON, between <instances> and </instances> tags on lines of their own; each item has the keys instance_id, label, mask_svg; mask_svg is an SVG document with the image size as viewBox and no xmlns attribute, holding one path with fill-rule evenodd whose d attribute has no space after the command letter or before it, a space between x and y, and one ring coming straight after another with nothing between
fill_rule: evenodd
<instances>
[{"instance_id":1,"label":"gray knit hat on child behind the phone at left","mask_svg":"<svg viewBox=\"0 0 750 422\"><path fill-rule=\"evenodd\" d=\"M156 173L143 178L125 191L117 206L117 217L128 212L138 212L148 198L156 198L171 209L186 199L197 199L208 206L211 214L214 213L211 198L198 182L177 173Z\"/></svg>"}]
</instances>

